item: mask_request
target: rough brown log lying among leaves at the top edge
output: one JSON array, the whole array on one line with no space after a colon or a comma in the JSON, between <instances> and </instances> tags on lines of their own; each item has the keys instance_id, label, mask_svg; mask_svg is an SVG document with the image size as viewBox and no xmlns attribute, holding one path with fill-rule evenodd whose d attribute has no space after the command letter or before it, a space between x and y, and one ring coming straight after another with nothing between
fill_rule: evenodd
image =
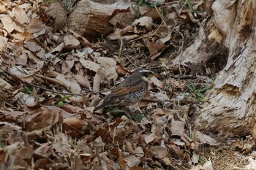
<instances>
[{"instance_id":1,"label":"rough brown log lying among leaves at the top edge","mask_svg":"<svg viewBox=\"0 0 256 170\"><path fill-rule=\"evenodd\" d=\"M128 12L129 1L99 4L90 0L81 0L67 18L67 26L87 39L95 39L97 36L112 33L120 18L122 21L118 24L125 25L132 22L132 15L128 15Z\"/></svg>"}]
</instances>

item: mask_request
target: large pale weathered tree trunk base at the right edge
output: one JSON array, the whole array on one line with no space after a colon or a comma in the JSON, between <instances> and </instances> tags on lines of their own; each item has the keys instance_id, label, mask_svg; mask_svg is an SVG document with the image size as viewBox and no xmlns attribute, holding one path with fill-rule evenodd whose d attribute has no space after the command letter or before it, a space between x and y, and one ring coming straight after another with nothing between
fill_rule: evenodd
<instances>
[{"instance_id":1,"label":"large pale weathered tree trunk base at the right edge","mask_svg":"<svg viewBox=\"0 0 256 170\"><path fill-rule=\"evenodd\" d=\"M229 53L197 117L197 128L256 139L256 2L217 0L212 8Z\"/></svg>"}]
</instances>

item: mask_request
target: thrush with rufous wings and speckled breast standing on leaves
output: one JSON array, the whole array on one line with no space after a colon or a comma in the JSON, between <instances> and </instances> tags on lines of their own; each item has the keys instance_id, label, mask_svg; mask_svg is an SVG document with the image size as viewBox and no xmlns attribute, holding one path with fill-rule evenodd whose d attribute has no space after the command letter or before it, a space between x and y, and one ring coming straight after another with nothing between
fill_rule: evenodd
<instances>
[{"instance_id":1,"label":"thrush with rufous wings and speckled breast standing on leaves","mask_svg":"<svg viewBox=\"0 0 256 170\"><path fill-rule=\"evenodd\" d=\"M129 106L140 101L148 90L148 75L151 74L148 69L137 69L127 79L121 82L111 93L104 97L103 104L95 107L94 111L110 104L121 104Z\"/></svg>"}]
</instances>

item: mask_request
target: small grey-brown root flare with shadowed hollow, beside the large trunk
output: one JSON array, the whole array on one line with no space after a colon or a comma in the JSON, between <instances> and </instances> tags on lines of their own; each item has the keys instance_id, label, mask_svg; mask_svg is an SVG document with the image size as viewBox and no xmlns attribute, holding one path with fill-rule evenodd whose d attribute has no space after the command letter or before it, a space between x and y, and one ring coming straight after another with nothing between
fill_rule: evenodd
<instances>
[{"instance_id":1,"label":"small grey-brown root flare with shadowed hollow, beside the large trunk","mask_svg":"<svg viewBox=\"0 0 256 170\"><path fill-rule=\"evenodd\" d=\"M206 26L200 26L192 45L174 58L172 63L187 66L192 75L211 75L224 69L227 55L228 49L223 45L222 33L214 25L214 18L211 18Z\"/></svg>"}]
</instances>

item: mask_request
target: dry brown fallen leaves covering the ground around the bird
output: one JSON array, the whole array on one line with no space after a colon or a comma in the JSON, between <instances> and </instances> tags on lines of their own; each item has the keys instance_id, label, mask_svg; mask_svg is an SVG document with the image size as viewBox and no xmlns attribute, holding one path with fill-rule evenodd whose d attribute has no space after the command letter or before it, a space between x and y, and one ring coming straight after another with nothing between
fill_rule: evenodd
<instances>
[{"instance_id":1,"label":"dry brown fallen leaves covering the ground around the bird","mask_svg":"<svg viewBox=\"0 0 256 170\"><path fill-rule=\"evenodd\" d=\"M171 77L176 71L159 59L165 50L180 53L206 18L195 19L183 6L138 7L140 18L131 25L89 42L65 26L59 3L0 1L0 169L197 165L197 148L217 142L192 131L189 119L197 105L184 98L186 81ZM140 121L93 113L103 92L142 64L157 75L138 103L140 111L133 109L142 113Z\"/></svg>"}]
</instances>

